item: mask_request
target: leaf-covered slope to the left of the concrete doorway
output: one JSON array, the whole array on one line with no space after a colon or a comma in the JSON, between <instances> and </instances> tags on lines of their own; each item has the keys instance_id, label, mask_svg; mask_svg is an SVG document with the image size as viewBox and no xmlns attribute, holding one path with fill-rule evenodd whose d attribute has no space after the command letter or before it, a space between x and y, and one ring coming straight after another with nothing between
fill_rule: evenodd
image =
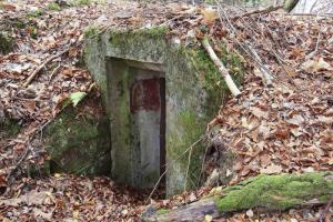
<instances>
[{"instance_id":1,"label":"leaf-covered slope to the left of the concrete doorway","mask_svg":"<svg viewBox=\"0 0 333 222\"><path fill-rule=\"evenodd\" d=\"M0 119L16 120L22 127L17 138L1 141L0 175L16 170L24 155L42 163L46 155L33 139L71 93L93 87L89 72L80 67L81 44L84 27L99 10L83 17L84 8L60 12L38 1L3 4L0 16L16 42L14 52L0 57Z\"/></svg>"}]
</instances>

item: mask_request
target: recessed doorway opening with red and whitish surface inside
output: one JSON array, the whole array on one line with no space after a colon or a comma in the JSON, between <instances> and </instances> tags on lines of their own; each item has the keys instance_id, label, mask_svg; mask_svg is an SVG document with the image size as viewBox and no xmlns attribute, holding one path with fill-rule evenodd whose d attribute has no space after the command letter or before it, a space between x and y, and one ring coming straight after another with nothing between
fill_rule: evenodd
<instances>
[{"instance_id":1,"label":"recessed doorway opening with red and whitish surface inside","mask_svg":"<svg viewBox=\"0 0 333 222\"><path fill-rule=\"evenodd\" d=\"M153 188L165 167L163 65L109 58L107 73L112 178L135 189Z\"/></svg>"}]
</instances>

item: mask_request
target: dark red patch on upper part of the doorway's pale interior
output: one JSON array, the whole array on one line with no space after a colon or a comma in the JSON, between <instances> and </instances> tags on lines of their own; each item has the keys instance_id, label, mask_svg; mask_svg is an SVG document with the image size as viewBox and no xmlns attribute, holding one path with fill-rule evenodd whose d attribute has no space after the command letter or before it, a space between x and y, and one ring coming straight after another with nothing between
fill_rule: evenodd
<instances>
[{"instance_id":1,"label":"dark red patch on upper part of the doorway's pale interior","mask_svg":"<svg viewBox=\"0 0 333 222\"><path fill-rule=\"evenodd\" d=\"M159 111L160 101L160 79L137 80L131 87L131 112L141 110Z\"/></svg>"}]
</instances>

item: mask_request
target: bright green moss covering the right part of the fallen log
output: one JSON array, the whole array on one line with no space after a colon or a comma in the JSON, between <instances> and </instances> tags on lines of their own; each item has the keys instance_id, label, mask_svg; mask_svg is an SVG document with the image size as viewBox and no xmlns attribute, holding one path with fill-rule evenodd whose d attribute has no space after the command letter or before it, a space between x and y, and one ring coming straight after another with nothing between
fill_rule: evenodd
<instances>
[{"instance_id":1,"label":"bright green moss covering the right part of the fallen log","mask_svg":"<svg viewBox=\"0 0 333 222\"><path fill-rule=\"evenodd\" d=\"M261 174L222 190L215 196L219 212L246 209L286 210L316 199L327 202L333 191L332 172L304 174Z\"/></svg>"}]
</instances>

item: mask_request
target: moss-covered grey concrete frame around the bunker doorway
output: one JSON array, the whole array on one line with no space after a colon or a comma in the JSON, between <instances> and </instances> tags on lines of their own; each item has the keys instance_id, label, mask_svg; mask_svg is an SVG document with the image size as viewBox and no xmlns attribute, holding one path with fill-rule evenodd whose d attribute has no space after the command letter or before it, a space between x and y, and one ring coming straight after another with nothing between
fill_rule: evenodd
<instances>
[{"instance_id":1,"label":"moss-covered grey concrete frame around the bunker doorway","mask_svg":"<svg viewBox=\"0 0 333 222\"><path fill-rule=\"evenodd\" d=\"M85 32L84 47L87 67L101 88L110 120L122 123L118 131L124 132L119 133L120 137L127 137L122 139L124 142L131 140L128 137L129 133L125 133L131 123L127 109L129 99L124 90L129 85L118 84L118 91L110 91L110 85L117 84L110 77L112 72L118 71L118 68L111 65L113 68L107 69L108 60L115 58L123 60L120 62L131 60L163 67L167 103L167 165L172 163L167 173L167 193L170 195L183 191L186 180L188 188L199 185L199 174L205 150L204 142L198 143L192 149L188 178L189 153L181 159L179 157L205 133L206 123L218 113L220 105L229 95L222 75L203 49L183 47L176 42L164 27L139 30L100 30L97 27L90 27ZM223 48L222 44L221 48ZM243 74L241 60L236 54L223 50L220 56L232 71L236 83L240 84ZM128 74L123 75L123 78L128 77ZM112 100L114 94L120 94L123 100L119 102ZM113 115L112 109L121 107L124 108L121 117ZM112 141L118 140L114 137L112 132ZM117 164L117 161L122 162L119 165L123 169L119 172L124 173L122 175L124 179L130 176L128 172L130 171L129 164L131 164L129 157L133 157L131 152L127 145L112 145L112 158L115 159L113 164ZM121 157L125 158L124 161Z\"/></svg>"}]
</instances>

